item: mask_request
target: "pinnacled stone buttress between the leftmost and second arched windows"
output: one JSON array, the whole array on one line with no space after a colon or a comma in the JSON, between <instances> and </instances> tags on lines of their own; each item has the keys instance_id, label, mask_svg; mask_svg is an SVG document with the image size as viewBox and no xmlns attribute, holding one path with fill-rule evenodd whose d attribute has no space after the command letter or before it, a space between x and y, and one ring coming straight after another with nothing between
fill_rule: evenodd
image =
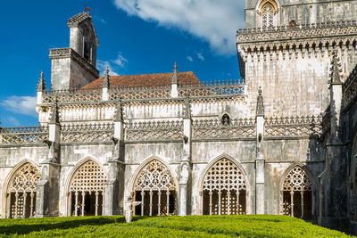
<instances>
[{"instance_id":1,"label":"pinnacled stone buttress between the leftmost and second arched windows","mask_svg":"<svg viewBox=\"0 0 357 238\"><path fill-rule=\"evenodd\" d=\"M48 156L41 163L41 180L36 186L35 217L58 216L60 195L60 123L54 103L49 126Z\"/></svg>"}]
</instances>

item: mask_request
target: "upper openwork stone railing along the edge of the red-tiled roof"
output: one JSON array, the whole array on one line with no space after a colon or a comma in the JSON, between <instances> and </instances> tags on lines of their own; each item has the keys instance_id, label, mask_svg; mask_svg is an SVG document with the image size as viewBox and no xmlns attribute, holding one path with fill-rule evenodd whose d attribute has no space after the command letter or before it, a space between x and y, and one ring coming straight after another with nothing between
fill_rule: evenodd
<instances>
[{"instance_id":1,"label":"upper openwork stone railing along the edge of the red-tiled roof","mask_svg":"<svg viewBox=\"0 0 357 238\"><path fill-rule=\"evenodd\" d=\"M215 97L245 94L242 80L208 81L195 84L179 84L180 97ZM109 90L109 100L170 99L171 85L115 86ZM45 91L43 103L101 102L102 87Z\"/></svg>"}]
</instances>

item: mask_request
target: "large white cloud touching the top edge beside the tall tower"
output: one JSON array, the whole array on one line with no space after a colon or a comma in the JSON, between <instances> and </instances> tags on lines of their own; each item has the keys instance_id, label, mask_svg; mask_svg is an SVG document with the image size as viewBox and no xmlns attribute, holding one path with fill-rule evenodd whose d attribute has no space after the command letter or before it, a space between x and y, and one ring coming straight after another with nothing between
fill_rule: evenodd
<instances>
[{"instance_id":1,"label":"large white cloud touching the top edge beside the tall tower","mask_svg":"<svg viewBox=\"0 0 357 238\"><path fill-rule=\"evenodd\" d=\"M114 0L114 4L129 15L201 37L220 54L236 53L236 32L244 26L243 0Z\"/></svg>"}]
</instances>

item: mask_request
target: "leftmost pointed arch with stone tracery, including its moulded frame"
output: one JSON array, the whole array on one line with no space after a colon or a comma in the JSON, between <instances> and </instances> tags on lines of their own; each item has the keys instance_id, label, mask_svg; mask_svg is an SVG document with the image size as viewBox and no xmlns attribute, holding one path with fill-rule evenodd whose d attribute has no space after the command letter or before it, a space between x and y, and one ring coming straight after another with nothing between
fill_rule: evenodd
<instances>
[{"instance_id":1,"label":"leftmost pointed arch with stone tracery, including its moulded frame","mask_svg":"<svg viewBox=\"0 0 357 238\"><path fill-rule=\"evenodd\" d=\"M40 169L32 160L21 160L6 177L3 188L4 217L33 217Z\"/></svg>"}]
</instances>

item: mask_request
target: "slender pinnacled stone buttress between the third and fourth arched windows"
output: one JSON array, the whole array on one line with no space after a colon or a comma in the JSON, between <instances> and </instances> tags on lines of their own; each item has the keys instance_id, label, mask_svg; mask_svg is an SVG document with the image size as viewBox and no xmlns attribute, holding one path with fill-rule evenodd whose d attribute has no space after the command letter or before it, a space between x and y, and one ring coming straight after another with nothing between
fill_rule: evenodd
<instances>
[{"instance_id":1,"label":"slender pinnacled stone buttress between the third and fourth arched windows","mask_svg":"<svg viewBox=\"0 0 357 238\"><path fill-rule=\"evenodd\" d=\"M179 216L187 216L191 191L191 112L189 99L185 100L185 113L184 113L184 138L183 138L183 156L180 160L179 169Z\"/></svg>"}]
</instances>

